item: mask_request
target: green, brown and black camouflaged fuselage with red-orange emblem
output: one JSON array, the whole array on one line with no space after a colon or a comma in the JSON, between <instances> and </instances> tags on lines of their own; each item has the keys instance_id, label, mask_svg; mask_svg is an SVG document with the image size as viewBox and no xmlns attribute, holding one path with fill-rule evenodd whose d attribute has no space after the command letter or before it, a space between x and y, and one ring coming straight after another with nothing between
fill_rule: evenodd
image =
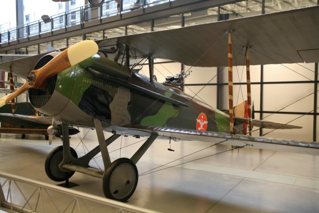
<instances>
[{"instance_id":1,"label":"green, brown and black camouflaged fuselage with red-orange emblem","mask_svg":"<svg viewBox=\"0 0 319 213\"><path fill-rule=\"evenodd\" d=\"M35 107L70 124L94 127L92 118L98 118L108 130L141 125L229 131L227 114L106 58L66 69L54 84L50 100Z\"/></svg>"}]
</instances>

